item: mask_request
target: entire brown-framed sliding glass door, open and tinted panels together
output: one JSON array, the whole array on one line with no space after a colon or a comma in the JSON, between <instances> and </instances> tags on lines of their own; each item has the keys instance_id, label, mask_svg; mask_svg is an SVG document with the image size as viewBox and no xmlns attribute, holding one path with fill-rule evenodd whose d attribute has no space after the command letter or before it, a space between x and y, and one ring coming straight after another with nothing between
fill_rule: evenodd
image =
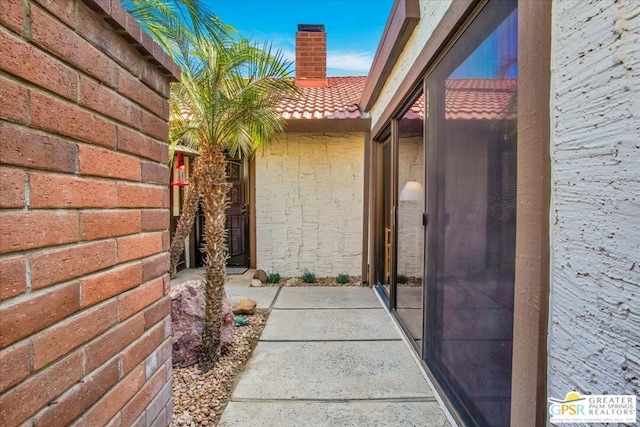
<instances>
[{"instance_id":1,"label":"entire brown-framed sliding glass door, open and tinted panels together","mask_svg":"<svg viewBox=\"0 0 640 427\"><path fill-rule=\"evenodd\" d=\"M516 6L488 1L375 144L375 283L471 426L510 417Z\"/></svg>"}]
</instances>

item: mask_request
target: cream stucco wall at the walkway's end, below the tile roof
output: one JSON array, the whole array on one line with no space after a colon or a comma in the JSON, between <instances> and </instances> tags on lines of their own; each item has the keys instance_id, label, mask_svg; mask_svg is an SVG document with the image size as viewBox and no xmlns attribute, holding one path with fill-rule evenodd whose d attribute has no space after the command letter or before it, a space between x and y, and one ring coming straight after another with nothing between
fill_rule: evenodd
<instances>
[{"instance_id":1,"label":"cream stucco wall at the walkway's end, below the tile roof","mask_svg":"<svg viewBox=\"0 0 640 427\"><path fill-rule=\"evenodd\" d=\"M287 134L256 157L257 267L359 276L364 134Z\"/></svg>"}]
</instances>

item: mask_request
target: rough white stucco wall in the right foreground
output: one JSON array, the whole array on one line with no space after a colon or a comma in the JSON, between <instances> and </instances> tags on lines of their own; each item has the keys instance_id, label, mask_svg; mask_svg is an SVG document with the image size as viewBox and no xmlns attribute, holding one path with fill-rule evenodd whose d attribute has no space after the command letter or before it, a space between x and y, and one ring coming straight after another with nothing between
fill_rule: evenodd
<instances>
[{"instance_id":1,"label":"rough white stucco wall in the right foreground","mask_svg":"<svg viewBox=\"0 0 640 427\"><path fill-rule=\"evenodd\" d=\"M640 395L640 2L552 19L549 396Z\"/></svg>"}]
</instances>

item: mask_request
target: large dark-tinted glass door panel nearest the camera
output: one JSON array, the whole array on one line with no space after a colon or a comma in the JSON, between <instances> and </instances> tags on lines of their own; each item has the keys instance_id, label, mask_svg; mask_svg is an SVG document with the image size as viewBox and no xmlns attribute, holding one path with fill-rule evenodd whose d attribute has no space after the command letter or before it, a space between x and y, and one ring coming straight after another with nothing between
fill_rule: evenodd
<instances>
[{"instance_id":1,"label":"large dark-tinted glass door panel nearest the camera","mask_svg":"<svg viewBox=\"0 0 640 427\"><path fill-rule=\"evenodd\" d=\"M426 79L430 221L423 355L470 425L509 425L515 6L490 2Z\"/></svg>"}]
</instances>

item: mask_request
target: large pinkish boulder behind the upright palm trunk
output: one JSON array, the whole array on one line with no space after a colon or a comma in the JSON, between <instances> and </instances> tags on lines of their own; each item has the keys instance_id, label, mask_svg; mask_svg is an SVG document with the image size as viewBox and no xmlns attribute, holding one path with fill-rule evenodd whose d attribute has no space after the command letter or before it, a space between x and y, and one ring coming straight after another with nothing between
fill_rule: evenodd
<instances>
[{"instance_id":1,"label":"large pinkish boulder behind the upright palm trunk","mask_svg":"<svg viewBox=\"0 0 640 427\"><path fill-rule=\"evenodd\" d=\"M171 326L173 327L173 366L194 365L200 358L204 327L204 281L189 280L171 288ZM224 351L233 342L235 316L226 297L222 300L220 347Z\"/></svg>"}]
</instances>

